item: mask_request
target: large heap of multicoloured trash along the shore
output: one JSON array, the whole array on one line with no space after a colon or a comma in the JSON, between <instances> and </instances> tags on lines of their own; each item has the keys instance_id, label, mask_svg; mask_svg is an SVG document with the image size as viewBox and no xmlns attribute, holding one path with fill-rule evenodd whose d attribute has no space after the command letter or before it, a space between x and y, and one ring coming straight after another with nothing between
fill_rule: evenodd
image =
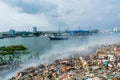
<instances>
[{"instance_id":1,"label":"large heap of multicoloured trash along the shore","mask_svg":"<svg viewBox=\"0 0 120 80\"><path fill-rule=\"evenodd\" d=\"M120 80L120 44L102 46L92 55L29 67L8 80Z\"/></svg>"}]
</instances>

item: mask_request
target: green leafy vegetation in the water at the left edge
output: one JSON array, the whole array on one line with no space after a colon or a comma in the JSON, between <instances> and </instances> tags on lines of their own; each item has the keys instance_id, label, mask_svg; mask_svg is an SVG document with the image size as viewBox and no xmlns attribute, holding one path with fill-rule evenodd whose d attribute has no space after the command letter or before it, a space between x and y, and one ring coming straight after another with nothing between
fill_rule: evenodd
<instances>
[{"instance_id":1,"label":"green leafy vegetation in the water at the left edge","mask_svg":"<svg viewBox=\"0 0 120 80\"><path fill-rule=\"evenodd\" d=\"M2 46L0 47L0 61L18 60L28 53L28 49L23 45Z\"/></svg>"}]
</instances>

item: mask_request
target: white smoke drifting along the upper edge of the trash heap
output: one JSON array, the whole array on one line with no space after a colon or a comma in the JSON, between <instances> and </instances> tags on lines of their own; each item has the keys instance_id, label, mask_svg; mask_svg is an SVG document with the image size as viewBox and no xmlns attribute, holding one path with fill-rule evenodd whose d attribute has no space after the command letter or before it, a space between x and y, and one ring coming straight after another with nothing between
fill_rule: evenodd
<instances>
[{"instance_id":1,"label":"white smoke drifting along the upper edge of the trash heap","mask_svg":"<svg viewBox=\"0 0 120 80\"><path fill-rule=\"evenodd\" d=\"M65 41L50 41L52 45L51 49L47 49L44 54L39 55L38 58L32 58L22 64L22 68L9 73L5 80L14 76L15 73L30 67L37 66L39 64L50 64L57 59L69 58L75 55L87 55L93 54L100 45L114 44L120 41L119 34L113 35L90 35L83 36L82 39L77 37L70 37Z\"/></svg>"}]
</instances>

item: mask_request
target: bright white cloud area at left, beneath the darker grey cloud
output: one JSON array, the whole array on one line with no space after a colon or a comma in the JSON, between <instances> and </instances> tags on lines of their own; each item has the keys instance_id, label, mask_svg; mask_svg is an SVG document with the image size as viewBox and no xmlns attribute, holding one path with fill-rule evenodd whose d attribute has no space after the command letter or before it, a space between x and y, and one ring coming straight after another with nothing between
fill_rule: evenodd
<instances>
[{"instance_id":1,"label":"bright white cloud area at left, beneath the darker grey cloud","mask_svg":"<svg viewBox=\"0 0 120 80\"><path fill-rule=\"evenodd\" d=\"M31 15L19 12L19 8L8 6L0 2L0 30L8 31L10 28L16 30L30 30L33 26L40 27L39 30L51 30L52 25L45 14ZM43 28L44 27L44 28Z\"/></svg>"}]
</instances>

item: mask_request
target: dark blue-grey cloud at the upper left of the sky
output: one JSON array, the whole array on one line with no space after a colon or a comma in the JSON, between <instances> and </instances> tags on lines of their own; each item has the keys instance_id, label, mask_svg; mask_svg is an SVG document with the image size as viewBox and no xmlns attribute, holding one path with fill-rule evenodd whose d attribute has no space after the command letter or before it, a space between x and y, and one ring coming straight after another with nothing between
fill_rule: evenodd
<instances>
[{"instance_id":1,"label":"dark blue-grey cloud at the upper left of the sky","mask_svg":"<svg viewBox=\"0 0 120 80\"><path fill-rule=\"evenodd\" d=\"M28 14L37 14L37 13L48 13L56 9L56 5L52 4L45 0L36 0L34 2L30 2L32 0L2 0L3 2L13 6L20 8L20 12L28 13Z\"/></svg>"}]
</instances>

